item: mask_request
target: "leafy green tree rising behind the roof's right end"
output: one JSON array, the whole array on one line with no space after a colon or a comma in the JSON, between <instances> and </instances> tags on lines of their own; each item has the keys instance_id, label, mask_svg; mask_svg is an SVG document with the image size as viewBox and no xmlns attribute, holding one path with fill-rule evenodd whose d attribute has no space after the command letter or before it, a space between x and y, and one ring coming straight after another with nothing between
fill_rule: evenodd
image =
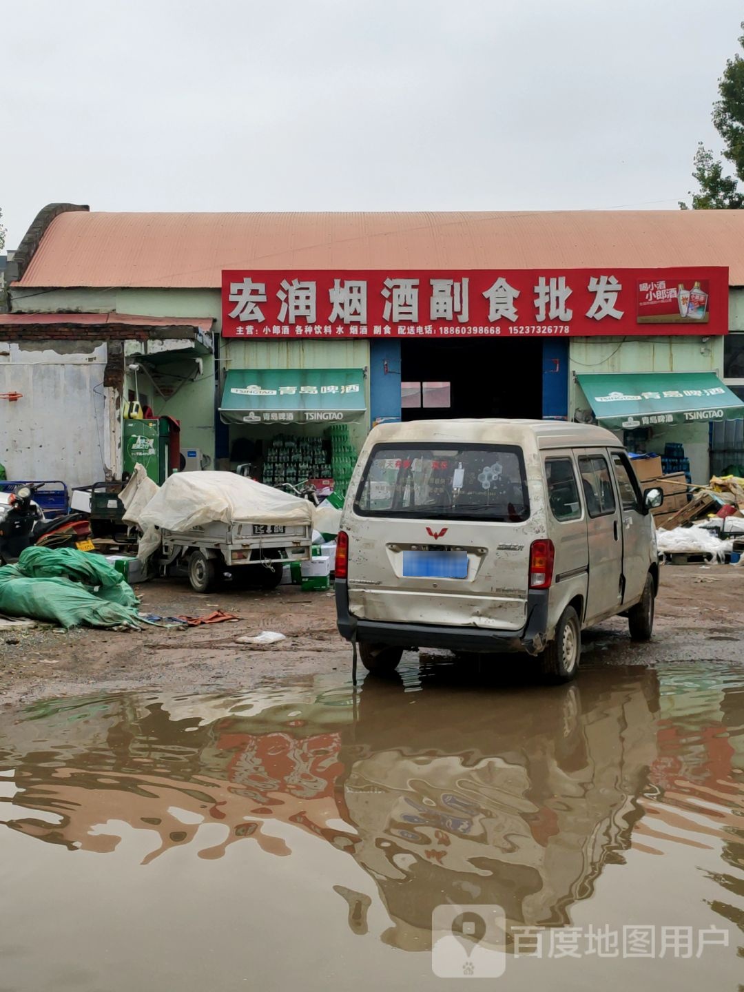
<instances>
[{"instance_id":1,"label":"leafy green tree rising behind the roof's right end","mask_svg":"<svg viewBox=\"0 0 744 992\"><path fill-rule=\"evenodd\" d=\"M744 21L740 25L744 31ZM744 49L744 34L739 36ZM700 187L693 193L693 210L727 209L744 207L744 193L738 188L737 179L744 182L744 59L735 55L726 62L718 80L720 99L713 104L713 124L723 140L723 156L734 166L736 176L723 175L723 163L713 158L713 153L698 144L695 152L692 177ZM682 210L687 204L680 202Z\"/></svg>"}]
</instances>

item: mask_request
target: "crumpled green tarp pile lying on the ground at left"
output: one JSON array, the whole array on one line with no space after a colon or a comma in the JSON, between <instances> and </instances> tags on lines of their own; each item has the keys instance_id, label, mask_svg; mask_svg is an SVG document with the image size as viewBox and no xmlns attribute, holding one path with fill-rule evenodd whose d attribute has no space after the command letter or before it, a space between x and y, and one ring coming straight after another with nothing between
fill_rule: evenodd
<instances>
[{"instance_id":1,"label":"crumpled green tarp pile lying on the ground at left","mask_svg":"<svg viewBox=\"0 0 744 992\"><path fill-rule=\"evenodd\" d=\"M0 613L61 627L139 628L137 596L105 558L73 548L27 548L0 568Z\"/></svg>"}]
</instances>

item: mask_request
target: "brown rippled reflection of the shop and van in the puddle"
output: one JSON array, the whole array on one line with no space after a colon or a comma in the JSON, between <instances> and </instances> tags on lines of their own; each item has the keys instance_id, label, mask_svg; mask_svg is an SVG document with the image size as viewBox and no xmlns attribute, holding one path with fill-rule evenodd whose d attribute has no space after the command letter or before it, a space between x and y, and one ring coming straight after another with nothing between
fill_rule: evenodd
<instances>
[{"instance_id":1,"label":"brown rippled reflection of the shop and van in the puddle","mask_svg":"<svg viewBox=\"0 0 744 992\"><path fill-rule=\"evenodd\" d=\"M565 925L631 850L652 869L686 852L691 902L702 898L694 852L712 853L705 877L717 898L706 902L720 925L741 925L738 676L589 670L541 688L442 671L367 680L353 705L350 688L327 679L35 705L0 732L0 825L60 856L115 855L128 825L141 831L145 866L175 848L209 860L253 843L294 853L297 871L308 870L300 839L310 834L374 881L387 921L376 930L373 900L339 862L337 877L317 879L348 929L407 950L430 946L441 903L496 903L511 925ZM617 876L615 887L630 914L635 895Z\"/></svg>"}]
</instances>

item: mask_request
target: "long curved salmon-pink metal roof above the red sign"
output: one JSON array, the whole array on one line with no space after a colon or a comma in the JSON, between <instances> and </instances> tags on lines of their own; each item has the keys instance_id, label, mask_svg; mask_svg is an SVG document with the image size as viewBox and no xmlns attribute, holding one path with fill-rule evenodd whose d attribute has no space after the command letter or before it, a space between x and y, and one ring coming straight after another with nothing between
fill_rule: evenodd
<instances>
[{"instance_id":1,"label":"long curved salmon-pink metal roof above the red sign","mask_svg":"<svg viewBox=\"0 0 744 992\"><path fill-rule=\"evenodd\" d=\"M96 213L50 224L23 287L218 287L222 269L726 265L744 286L744 210Z\"/></svg>"}]
</instances>

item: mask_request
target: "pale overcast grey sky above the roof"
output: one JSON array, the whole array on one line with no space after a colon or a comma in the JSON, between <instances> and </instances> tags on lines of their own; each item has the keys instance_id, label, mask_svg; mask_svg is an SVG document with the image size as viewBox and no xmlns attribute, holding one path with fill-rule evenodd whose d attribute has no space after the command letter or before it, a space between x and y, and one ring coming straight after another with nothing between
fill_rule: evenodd
<instances>
[{"instance_id":1,"label":"pale overcast grey sky above the roof","mask_svg":"<svg viewBox=\"0 0 744 992\"><path fill-rule=\"evenodd\" d=\"M675 209L740 0L3 4L0 209Z\"/></svg>"}]
</instances>

